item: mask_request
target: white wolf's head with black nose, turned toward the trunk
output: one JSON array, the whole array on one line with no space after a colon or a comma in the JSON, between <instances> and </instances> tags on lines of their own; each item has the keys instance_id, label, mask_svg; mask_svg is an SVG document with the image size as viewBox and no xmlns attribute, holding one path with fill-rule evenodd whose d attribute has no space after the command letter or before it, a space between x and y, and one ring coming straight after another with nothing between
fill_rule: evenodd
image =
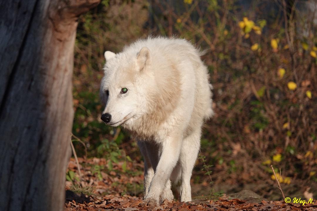
<instances>
[{"instance_id":1,"label":"white wolf's head with black nose, turned toward the trunk","mask_svg":"<svg viewBox=\"0 0 317 211\"><path fill-rule=\"evenodd\" d=\"M148 110L148 97L155 93L151 53L143 47L138 53L105 52L106 64L100 96L106 105L101 119L111 126L132 125Z\"/></svg>"}]
</instances>

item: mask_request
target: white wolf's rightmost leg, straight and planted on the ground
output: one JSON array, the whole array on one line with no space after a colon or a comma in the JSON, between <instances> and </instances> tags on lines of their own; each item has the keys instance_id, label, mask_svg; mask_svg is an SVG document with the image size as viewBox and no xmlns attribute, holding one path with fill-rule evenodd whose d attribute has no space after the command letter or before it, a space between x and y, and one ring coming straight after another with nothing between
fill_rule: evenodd
<instances>
[{"instance_id":1,"label":"white wolf's rightmost leg, straight and planted on the ground","mask_svg":"<svg viewBox=\"0 0 317 211\"><path fill-rule=\"evenodd\" d=\"M180 166L181 166L181 181L182 184L179 189L180 201L191 201L191 172L195 165L197 155L200 148L200 128L195 130L183 140L183 145L180 153Z\"/></svg>"}]
</instances>

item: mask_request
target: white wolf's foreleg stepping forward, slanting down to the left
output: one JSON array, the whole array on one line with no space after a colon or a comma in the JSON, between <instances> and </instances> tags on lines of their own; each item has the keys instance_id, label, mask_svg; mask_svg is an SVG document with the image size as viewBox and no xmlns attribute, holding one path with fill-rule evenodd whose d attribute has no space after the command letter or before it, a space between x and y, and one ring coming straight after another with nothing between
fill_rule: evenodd
<instances>
[{"instance_id":1,"label":"white wolf's foreleg stepping forward, slanting down to the left","mask_svg":"<svg viewBox=\"0 0 317 211\"><path fill-rule=\"evenodd\" d=\"M163 192L171 172L175 167L181 148L181 136L169 136L162 143L162 153L152 178L149 193L145 197L145 203L149 206L159 205L159 197Z\"/></svg>"}]
</instances>

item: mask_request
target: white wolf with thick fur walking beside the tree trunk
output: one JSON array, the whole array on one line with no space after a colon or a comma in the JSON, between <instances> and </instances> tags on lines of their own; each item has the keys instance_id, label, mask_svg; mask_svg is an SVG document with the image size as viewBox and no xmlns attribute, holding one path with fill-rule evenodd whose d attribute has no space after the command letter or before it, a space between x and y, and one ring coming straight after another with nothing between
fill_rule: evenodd
<instances>
[{"instance_id":1,"label":"white wolf with thick fur walking beside the tree trunk","mask_svg":"<svg viewBox=\"0 0 317 211\"><path fill-rule=\"evenodd\" d=\"M120 53L105 52L101 119L132 131L144 156L144 203L191 201L190 178L201 128L211 109L211 85L201 52L178 38L149 37Z\"/></svg>"}]
</instances>

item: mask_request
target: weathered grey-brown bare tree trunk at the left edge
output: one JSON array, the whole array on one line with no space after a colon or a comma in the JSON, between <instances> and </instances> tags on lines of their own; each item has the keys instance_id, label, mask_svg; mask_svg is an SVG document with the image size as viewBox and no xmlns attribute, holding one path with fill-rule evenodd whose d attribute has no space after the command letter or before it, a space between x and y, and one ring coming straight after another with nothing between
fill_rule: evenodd
<instances>
[{"instance_id":1,"label":"weathered grey-brown bare tree trunk at the left edge","mask_svg":"<svg viewBox=\"0 0 317 211\"><path fill-rule=\"evenodd\" d=\"M77 17L99 1L0 1L0 210L63 209Z\"/></svg>"}]
</instances>

